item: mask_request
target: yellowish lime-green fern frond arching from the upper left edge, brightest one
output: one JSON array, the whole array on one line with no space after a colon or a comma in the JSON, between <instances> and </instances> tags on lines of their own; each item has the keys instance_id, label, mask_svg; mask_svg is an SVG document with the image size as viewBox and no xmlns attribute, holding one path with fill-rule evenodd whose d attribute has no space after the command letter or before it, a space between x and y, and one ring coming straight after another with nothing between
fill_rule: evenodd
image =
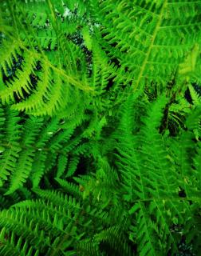
<instances>
[{"instance_id":1,"label":"yellowish lime-green fern frond arching from the upper left edge, brightest one","mask_svg":"<svg viewBox=\"0 0 201 256\"><path fill-rule=\"evenodd\" d=\"M44 4L45 5L45 4ZM18 11L13 15L18 15ZM22 14L23 14L23 10ZM23 18L22 18L23 20ZM38 25L39 26L39 25ZM40 25L41 26L41 25ZM53 30L55 32L55 30ZM33 31L32 31L33 32ZM31 32L31 33L32 33ZM80 90L92 91L92 89L86 84L85 74L81 74L80 78L76 78L78 73L77 62L78 58L81 59L81 68L84 69L84 55L81 58L81 50L73 46L71 43L62 42L64 35L61 34L57 36L60 38L59 43L63 53L61 55L61 62L65 60L65 67L68 66L67 70L64 70L64 66L57 67L55 63L55 57L53 54L46 54L45 50L40 50L40 53L37 52L36 48L44 46L45 42L40 42L40 37L37 38L37 33L32 33L32 47L29 46L30 42L26 41L23 38L14 38L16 35L13 35L11 38L5 38L2 45L2 71L7 74L8 68L14 66L14 59L17 59L17 54L23 59L22 65L18 68L15 73L11 76L6 85L3 85L2 90L0 91L0 97L2 98L3 103L13 103L13 108L15 110L26 110L27 113L34 115L53 115L58 110L63 110L67 105L71 105L71 97L79 97ZM31 40L31 39L30 39ZM36 42L33 42L36 40ZM66 41L66 38L65 38ZM6 51L5 47L10 44L9 50ZM56 44L56 42L51 42L51 44ZM73 46L73 47L72 47ZM52 46L53 47L53 46ZM71 48L73 50L71 50ZM54 49L52 49L54 50ZM71 51L69 58L65 56L65 52ZM5 54L6 52L6 54ZM38 65L40 67L38 67ZM74 71L75 72L74 72ZM82 70L83 71L83 70ZM3 75L3 74L2 74ZM35 76L36 82L33 84L30 77ZM80 81L78 81L81 79ZM68 93L65 93L65 90L68 90ZM14 95L17 95L20 102L16 102ZM29 95L29 97L27 97ZM74 107L77 106L73 102Z\"/></svg>"}]
</instances>

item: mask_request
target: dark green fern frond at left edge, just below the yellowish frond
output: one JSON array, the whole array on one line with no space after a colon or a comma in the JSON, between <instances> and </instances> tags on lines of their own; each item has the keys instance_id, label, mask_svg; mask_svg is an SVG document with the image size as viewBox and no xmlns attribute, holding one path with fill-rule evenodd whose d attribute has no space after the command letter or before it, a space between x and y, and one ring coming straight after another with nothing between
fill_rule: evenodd
<instances>
[{"instance_id":1,"label":"dark green fern frond at left edge, just below the yellowish frond","mask_svg":"<svg viewBox=\"0 0 201 256\"><path fill-rule=\"evenodd\" d=\"M71 139L75 127L62 129L59 118L26 118L18 111L10 110L9 106L1 107L1 110L0 177L1 186L10 184L8 194L28 181L37 187L44 174L53 171L57 162L58 177L69 177L77 170L80 158L72 150L79 146L83 134L77 131L77 137ZM69 159L66 170L61 166L61 158L66 163Z\"/></svg>"}]
</instances>

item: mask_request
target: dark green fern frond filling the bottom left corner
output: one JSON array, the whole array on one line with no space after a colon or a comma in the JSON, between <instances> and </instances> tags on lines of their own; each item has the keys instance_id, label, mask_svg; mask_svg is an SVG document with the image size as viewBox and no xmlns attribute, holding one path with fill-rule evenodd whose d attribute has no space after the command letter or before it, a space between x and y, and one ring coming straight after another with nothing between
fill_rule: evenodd
<instances>
[{"instance_id":1,"label":"dark green fern frond filling the bottom left corner","mask_svg":"<svg viewBox=\"0 0 201 256\"><path fill-rule=\"evenodd\" d=\"M89 251L92 255L101 255L98 242L92 242L90 246L87 241L94 241L92 225L97 226L95 222L97 218L104 219L103 211L92 210L90 207L83 208L74 198L61 192L34 191L42 199L18 202L10 210L3 210L0 213L1 250L8 250L9 241L3 243L5 231L8 230L8 235L17 236L22 242L26 239L26 248L23 249L25 251L33 250L48 255L71 255L76 251L80 254L83 247L84 251ZM91 217L90 221L87 216ZM90 239L86 234L87 230ZM45 242L42 243L43 239ZM16 247L21 251L20 245L19 242ZM14 246L15 244L11 247Z\"/></svg>"}]
</instances>

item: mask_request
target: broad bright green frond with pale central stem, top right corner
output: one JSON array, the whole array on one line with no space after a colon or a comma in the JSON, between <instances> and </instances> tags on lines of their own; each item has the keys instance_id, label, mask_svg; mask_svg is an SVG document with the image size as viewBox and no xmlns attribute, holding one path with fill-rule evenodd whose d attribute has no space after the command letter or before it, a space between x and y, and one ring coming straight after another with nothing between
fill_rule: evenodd
<instances>
[{"instance_id":1,"label":"broad bright green frond with pale central stem, top right corner","mask_svg":"<svg viewBox=\"0 0 201 256\"><path fill-rule=\"evenodd\" d=\"M200 2L107 1L99 7L104 42L116 45L112 56L124 53L120 62L132 70L135 90L146 82L165 84L191 45L199 43L199 13L195 10L200 9Z\"/></svg>"}]
</instances>

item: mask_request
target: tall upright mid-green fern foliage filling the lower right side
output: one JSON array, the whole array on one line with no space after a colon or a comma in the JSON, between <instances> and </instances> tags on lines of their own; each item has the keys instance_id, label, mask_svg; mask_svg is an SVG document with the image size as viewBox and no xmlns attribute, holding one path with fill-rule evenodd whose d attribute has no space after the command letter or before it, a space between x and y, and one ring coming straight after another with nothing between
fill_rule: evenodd
<instances>
[{"instance_id":1,"label":"tall upright mid-green fern foliage filling the lower right side","mask_svg":"<svg viewBox=\"0 0 201 256\"><path fill-rule=\"evenodd\" d=\"M187 194L188 200L195 197L196 202L196 197L200 197L199 191L194 192L194 187L198 186L190 182L191 165L187 162L187 148L184 147L191 145L191 142L188 140L187 144L185 137L181 137L182 142L179 143L185 156L180 160L183 171L179 172L175 170L178 165L172 165L169 160L170 152L167 151L164 140L167 138L164 137L162 140L156 130L160 126L161 107L165 106L165 102L165 98L162 97L158 102L152 103L148 117L144 117L144 127L142 126L142 130L135 135L135 139L132 138L133 126L129 124L128 118L128 126L124 126L124 121L120 123L120 131L124 130L124 138L122 142L118 138L120 142L117 146L119 154L116 154L116 164L122 175L124 199L130 205L133 203L129 213L132 216L136 215L136 223L132 224L135 227L132 228L130 235L136 237L140 255L160 255L162 251L164 254L164 251L170 248L173 254L176 250L171 221L174 220L177 224L187 222L184 212L190 210L189 202L179 202L179 186ZM179 155L178 144L176 152Z\"/></svg>"}]
</instances>

